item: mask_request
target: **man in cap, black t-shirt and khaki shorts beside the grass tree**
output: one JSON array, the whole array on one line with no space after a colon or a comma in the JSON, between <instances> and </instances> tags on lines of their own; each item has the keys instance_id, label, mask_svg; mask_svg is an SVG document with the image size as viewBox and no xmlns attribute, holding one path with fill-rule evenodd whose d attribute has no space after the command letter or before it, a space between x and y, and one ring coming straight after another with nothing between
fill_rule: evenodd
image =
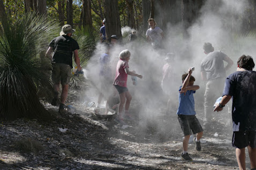
<instances>
[{"instance_id":1,"label":"man in cap, black t-shirt and khaki shorts beside the grass tree","mask_svg":"<svg viewBox=\"0 0 256 170\"><path fill-rule=\"evenodd\" d=\"M46 52L46 57L52 60L53 71L52 81L54 83L54 98L52 105L57 105L58 91L60 90L60 83L62 85L61 103L59 112L65 112L65 100L68 96L69 80L71 78L72 57L74 54L75 63L78 71L81 71L80 59L78 57L78 43L71 38L75 29L72 29L70 25L64 25L61 29L60 36L54 38ZM53 53L53 56L52 56Z\"/></svg>"}]
</instances>

